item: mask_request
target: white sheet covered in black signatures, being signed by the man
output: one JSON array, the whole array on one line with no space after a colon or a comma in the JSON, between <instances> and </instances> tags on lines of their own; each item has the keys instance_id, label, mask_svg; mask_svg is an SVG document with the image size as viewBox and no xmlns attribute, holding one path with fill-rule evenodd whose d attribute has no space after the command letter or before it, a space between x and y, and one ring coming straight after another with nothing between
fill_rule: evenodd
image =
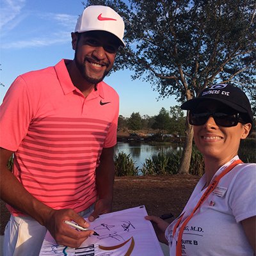
<instances>
[{"instance_id":1,"label":"white sheet covered in black signatures, being signed by the man","mask_svg":"<svg viewBox=\"0 0 256 256\"><path fill-rule=\"evenodd\" d=\"M39 256L164 256L146 215L144 206L100 215L90 222L90 230L100 236L88 237L76 249L56 244L47 232Z\"/></svg>"}]
</instances>

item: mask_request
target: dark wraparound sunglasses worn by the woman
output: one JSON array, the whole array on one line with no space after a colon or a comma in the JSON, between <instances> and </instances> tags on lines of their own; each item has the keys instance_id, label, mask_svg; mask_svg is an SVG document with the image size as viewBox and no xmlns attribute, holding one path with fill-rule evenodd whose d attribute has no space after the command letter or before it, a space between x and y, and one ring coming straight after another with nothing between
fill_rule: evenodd
<instances>
[{"instance_id":1,"label":"dark wraparound sunglasses worn by the woman","mask_svg":"<svg viewBox=\"0 0 256 256\"><path fill-rule=\"evenodd\" d=\"M205 109L194 109L189 111L189 124L204 125L209 116L212 116L216 125L223 127L236 126L238 122L243 122L239 113L234 112L233 109L216 109L209 112Z\"/></svg>"}]
</instances>

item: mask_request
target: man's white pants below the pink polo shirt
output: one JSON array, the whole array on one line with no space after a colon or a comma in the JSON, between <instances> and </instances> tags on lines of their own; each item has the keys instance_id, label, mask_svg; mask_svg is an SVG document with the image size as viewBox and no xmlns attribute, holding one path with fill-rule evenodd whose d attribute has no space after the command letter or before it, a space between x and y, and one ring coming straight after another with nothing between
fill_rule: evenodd
<instances>
[{"instance_id":1,"label":"man's white pants below the pink polo shirt","mask_svg":"<svg viewBox=\"0 0 256 256\"><path fill-rule=\"evenodd\" d=\"M91 205L79 215L88 218L93 212ZM38 256L47 229L27 216L11 215L4 230L4 256Z\"/></svg>"}]
</instances>

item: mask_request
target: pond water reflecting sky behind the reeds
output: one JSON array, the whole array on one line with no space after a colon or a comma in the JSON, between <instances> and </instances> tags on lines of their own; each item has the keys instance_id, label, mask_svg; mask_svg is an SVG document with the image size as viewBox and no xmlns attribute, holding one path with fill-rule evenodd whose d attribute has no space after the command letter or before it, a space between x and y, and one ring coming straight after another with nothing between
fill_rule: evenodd
<instances>
[{"instance_id":1,"label":"pond water reflecting sky behind the reeds","mask_svg":"<svg viewBox=\"0 0 256 256\"><path fill-rule=\"evenodd\" d=\"M136 162L136 166L139 169L142 168L146 158L150 158L152 155L156 155L159 152L172 152L173 150L180 150L182 144L170 143L168 145L157 143L157 145L148 145L145 141L129 141L122 142L118 141L114 147L114 154L118 155L118 152L124 152L125 154L131 154L132 160Z\"/></svg>"}]
</instances>

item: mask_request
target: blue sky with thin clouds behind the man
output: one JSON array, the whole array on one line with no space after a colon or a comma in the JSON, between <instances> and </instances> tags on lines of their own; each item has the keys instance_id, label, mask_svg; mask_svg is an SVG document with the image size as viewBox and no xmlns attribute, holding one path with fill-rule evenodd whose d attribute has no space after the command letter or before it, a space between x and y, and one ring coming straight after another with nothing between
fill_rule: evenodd
<instances>
[{"instance_id":1,"label":"blue sky with thin clouds behind the man","mask_svg":"<svg viewBox=\"0 0 256 256\"><path fill-rule=\"evenodd\" d=\"M73 60L70 33L83 10L81 0L0 1L0 102L20 74L54 66L61 59ZM154 116L177 104L174 96L157 100L159 93L151 84L132 80L132 74L120 70L104 79L120 96L120 115Z\"/></svg>"}]
</instances>

